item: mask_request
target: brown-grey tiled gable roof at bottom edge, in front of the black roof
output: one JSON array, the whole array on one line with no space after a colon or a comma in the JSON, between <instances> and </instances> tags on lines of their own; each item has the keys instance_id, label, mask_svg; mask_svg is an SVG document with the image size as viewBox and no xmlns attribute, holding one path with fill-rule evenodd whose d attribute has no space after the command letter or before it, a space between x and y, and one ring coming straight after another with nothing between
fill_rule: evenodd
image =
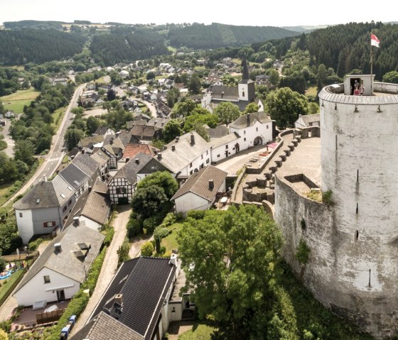
<instances>
[{"instance_id":1,"label":"brown-grey tiled gable roof at bottom edge, in front of the black roof","mask_svg":"<svg viewBox=\"0 0 398 340\"><path fill-rule=\"evenodd\" d=\"M144 340L144 336L117 321L110 315L100 312L82 329L77 331L70 340Z\"/></svg>"}]
</instances>

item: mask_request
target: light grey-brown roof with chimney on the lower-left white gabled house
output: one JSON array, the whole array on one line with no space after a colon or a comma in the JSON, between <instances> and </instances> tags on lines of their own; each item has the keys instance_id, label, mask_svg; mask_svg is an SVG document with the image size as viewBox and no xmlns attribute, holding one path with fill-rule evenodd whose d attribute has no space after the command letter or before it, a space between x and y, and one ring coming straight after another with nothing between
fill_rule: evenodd
<instances>
[{"instance_id":1,"label":"light grey-brown roof with chimney on the lower-left white gabled house","mask_svg":"<svg viewBox=\"0 0 398 340\"><path fill-rule=\"evenodd\" d=\"M43 253L41 253L36 262L33 263L31 269L28 270L28 273L26 273L21 283L19 283L16 292L26 285L26 283L43 268L54 270L78 283L82 283L86 277L85 270L90 270L92 261L95 260L95 256L97 256L102 241L104 241L104 235L88 228L84 224L67 226L58 236L48 243ZM55 252L55 243L61 243L60 252ZM91 246L84 262L80 261L73 253L73 251L80 250L77 243L86 243Z\"/></svg>"}]
</instances>

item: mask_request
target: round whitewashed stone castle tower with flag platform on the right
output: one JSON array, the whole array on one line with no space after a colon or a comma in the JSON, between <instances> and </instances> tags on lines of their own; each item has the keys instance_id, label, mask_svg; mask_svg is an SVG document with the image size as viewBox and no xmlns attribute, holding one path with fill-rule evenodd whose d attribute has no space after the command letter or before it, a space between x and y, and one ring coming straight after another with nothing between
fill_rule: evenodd
<instances>
[{"instance_id":1,"label":"round whitewashed stone castle tower with flag platform on the right","mask_svg":"<svg viewBox=\"0 0 398 340\"><path fill-rule=\"evenodd\" d=\"M363 96L353 95L355 80ZM332 203L276 179L284 256L323 305L382 339L398 331L398 84L351 75L318 96L321 190ZM294 258L301 238L305 267Z\"/></svg>"}]
</instances>

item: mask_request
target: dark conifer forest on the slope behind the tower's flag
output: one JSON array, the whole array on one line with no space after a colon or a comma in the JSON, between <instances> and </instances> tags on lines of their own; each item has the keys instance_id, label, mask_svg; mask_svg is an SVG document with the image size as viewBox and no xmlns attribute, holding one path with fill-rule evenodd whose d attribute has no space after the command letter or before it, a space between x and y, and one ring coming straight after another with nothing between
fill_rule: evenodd
<instances>
[{"instance_id":1,"label":"dark conifer forest on the slope behind the tower's flag","mask_svg":"<svg viewBox=\"0 0 398 340\"><path fill-rule=\"evenodd\" d=\"M383 23L348 23L311 32L306 47L316 65L333 67L340 77L360 70L370 73L370 32L380 40L373 47L373 74L398 70L398 26Z\"/></svg>"}]
</instances>

